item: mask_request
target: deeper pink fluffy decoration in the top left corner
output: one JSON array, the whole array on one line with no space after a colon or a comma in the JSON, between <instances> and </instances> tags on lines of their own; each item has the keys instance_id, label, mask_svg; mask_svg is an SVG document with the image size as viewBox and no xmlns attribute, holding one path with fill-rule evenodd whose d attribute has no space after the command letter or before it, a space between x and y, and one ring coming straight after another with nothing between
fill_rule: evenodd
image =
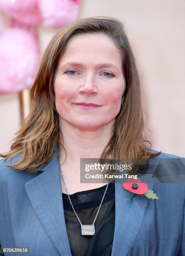
<instances>
[{"instance_id":1,"label":"deeper pink fluffy decoration in the top left corner","mask_svg":"<svg viewBox=\"0 0 185 256\"><path fill-rule=\"evenodd\" d=\"M42 21L38 0L0 0L0 9L26 25L36 26Z\"/></svg>"}]
</instances>

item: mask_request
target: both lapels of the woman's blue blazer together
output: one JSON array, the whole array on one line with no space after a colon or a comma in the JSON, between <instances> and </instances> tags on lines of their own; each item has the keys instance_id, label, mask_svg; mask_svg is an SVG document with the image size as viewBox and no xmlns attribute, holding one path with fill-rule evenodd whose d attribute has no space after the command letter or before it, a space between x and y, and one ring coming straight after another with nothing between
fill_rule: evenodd
<instances>
[{"instance_id":1,"label":"both lapels of the woman's blue blazer together","mask_svg":"<svg viewBox=\"0 0 185 256\"><path fill-rule=\"evenodd\" d=\"M63 211L59 158L49 161L41 172L25 183L25 190L53 246L60 255L71 256ZM124 180L115 181L115 228L112 256L126 256L129 253L142 225L149 201L147 197L135 195L132 206L129 207L132 194L123 188ZM153 184L149 183L148 189L152 187Z\"/></svg>"}]
</instances>

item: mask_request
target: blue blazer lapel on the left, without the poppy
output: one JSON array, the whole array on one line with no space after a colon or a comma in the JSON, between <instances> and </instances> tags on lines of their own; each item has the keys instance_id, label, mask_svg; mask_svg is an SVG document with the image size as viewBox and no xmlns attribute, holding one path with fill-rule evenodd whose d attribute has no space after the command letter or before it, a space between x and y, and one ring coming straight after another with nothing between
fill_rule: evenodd
<instances>
[{"instance_id":1,"label":"blue blazer lapel on the left, without the poppy","mask_svg":"<svg viewBox=\"0 0 185 256\"><path fill-rule=\"evenodd\" d=\"M62 256L71 256L58 157L48 162L41 171L41 174L25 183L25 190L48 238Z\"/></svg>"}]
</instances>

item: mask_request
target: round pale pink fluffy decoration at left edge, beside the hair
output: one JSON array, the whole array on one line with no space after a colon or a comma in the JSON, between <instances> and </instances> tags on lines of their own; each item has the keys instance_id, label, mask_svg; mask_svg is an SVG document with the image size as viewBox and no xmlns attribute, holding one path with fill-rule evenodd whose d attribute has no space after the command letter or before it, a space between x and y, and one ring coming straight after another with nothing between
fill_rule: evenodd
<instances>
[{"instance_id":1,"label":"round pale pink fluffy decoration at left edge, beside the hair","mask_svg":"<svg viewBox=\"0 0 185 256\"><path fill-rule=\"evenodd\" d=\"M32 34L7 28L0 35L0 92L18 92L33 84L39 52Z\"/></svg>"}]
</instances>

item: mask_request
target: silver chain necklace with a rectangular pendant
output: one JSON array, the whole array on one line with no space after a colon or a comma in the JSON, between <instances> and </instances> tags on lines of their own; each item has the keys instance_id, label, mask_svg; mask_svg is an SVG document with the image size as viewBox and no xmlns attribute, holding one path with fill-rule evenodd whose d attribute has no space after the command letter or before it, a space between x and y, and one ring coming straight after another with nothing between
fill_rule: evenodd
<instances>
[{"instance_id":1,"label":"silver chain necklace with a rectangular pendant","mask_svg":"<svg viewBox=\"0 0 185 256\"><path fill-rule=\"evenodd\" d=\"M96 213L96 217L94 218L94 221L93 221L92 225L82 225L82 223L81 223L81 221L80 221L80 219L79 219L79 216L76 214L76 211L74 210L73 204L72 204L72 202L71 202L71 198L69 197L69 194L68 194L68 191L67 191L67 187L66 187L66 183L65 183L64 178L63 178L61 166L60 166L60 174L61 174L61 178L62 178L62 180L63 180L63 184L64 184L64 186L65 186L65 189L66 189L66 192L67 192L67 195L68 195L69 202L70 202L70 204L71 204L71 206L72 206L72 208L73 208L73 211L74 211L74 213L75 213L75 215L76 215L76 217L77 217L77 219L79 220L79 223L80 223L80 225L81 225L81 235L82 235L82 236L93 236L94 233L95 233L94 223L95 223L96 218L97 218L97 216L98 216L98 214L99 214L99 210L100 210L101 204L102 204L102 202L103 202L103 200L104 200L105 193L106 193L106 190L107 190L107 187L108 187L109 183L106 185L106 189L105 189L104 195L103 195L103 197L102 197L102 199L101 199L101 203L100 203L100 205L99 205L99 209L98 209L98 211L97 211L97 213Z\"/></svg>"}]
</instances>

